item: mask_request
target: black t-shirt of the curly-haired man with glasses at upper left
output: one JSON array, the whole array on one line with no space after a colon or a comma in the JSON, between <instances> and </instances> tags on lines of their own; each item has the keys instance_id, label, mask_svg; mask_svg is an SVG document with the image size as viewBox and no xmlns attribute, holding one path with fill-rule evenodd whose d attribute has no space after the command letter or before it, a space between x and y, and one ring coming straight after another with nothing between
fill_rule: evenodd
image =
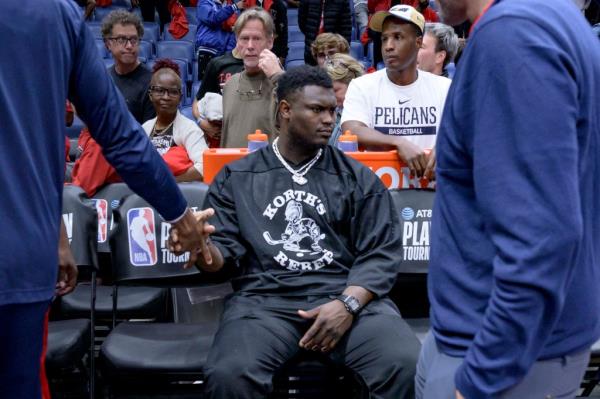
<instances>
[{"instance_id":1,"label":"black t-shirt of the curly-haired man with glasses at upper left","mask_svg":"<svg viewBox=\"0 0 600 399\"><path fill-rule=\"evenodd\" d=\"M125 97L129 112L138 123L142 124L156 116L148 96L148 87L150 86L150 79L152 79L152 72L148 68L140 63L132 72L119 75L113 65L108 68L108 71L117 88Z\"/></svg>"}]
</instances>

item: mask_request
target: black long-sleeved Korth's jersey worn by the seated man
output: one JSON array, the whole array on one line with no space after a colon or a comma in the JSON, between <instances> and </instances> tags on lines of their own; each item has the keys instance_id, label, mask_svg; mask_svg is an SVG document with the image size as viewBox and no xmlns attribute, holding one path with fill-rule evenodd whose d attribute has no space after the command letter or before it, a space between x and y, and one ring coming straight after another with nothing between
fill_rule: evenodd
<instances>
[{"instance_id":1,"label":"black long-sleeved Korth's jersey worn by the seated man","mask_svg":"<svg viewBox=\"0 0 600 399\"><path fill-rule=\"evenodd\" d=\"M234 289L328 296L358 285L386 295L402 242L381 180L331 146L305 177L295 183L268 146L225 166L211 184L211 237L236 270Z\"/></svg>"}]
</instances>

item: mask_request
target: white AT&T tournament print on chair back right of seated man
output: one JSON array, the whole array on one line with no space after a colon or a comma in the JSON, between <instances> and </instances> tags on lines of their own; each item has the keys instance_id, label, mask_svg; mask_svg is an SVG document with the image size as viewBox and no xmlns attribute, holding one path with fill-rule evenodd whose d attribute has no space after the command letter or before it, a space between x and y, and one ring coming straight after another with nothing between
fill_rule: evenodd
<instances>
[{"instance_id":1,"label":"white AT&T tournament print on chair back right of seated man","mask_svg":"<svg viewBox=\"0 0 600 399\"><path fill-rule=\"evenodd\" d=\"M402 259L429 261L431 209L402 208Z\"/></svg>"}]
</instances>

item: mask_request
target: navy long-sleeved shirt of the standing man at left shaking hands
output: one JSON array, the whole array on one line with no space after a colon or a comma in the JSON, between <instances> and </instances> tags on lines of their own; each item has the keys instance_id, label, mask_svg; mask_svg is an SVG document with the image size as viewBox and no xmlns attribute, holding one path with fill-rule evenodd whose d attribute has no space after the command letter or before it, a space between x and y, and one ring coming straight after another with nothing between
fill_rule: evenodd
<instances>
[{"instance_id":1,"label":"navy long-sleeved shirt of the standing man at left shaking hands","mask_svg":"<svg viewBox=\"0 0 600 399\"><path fill-rule=\"evenodd\" d=\"M167 220L175 180L108 76L69 0L0 1L0 305L48 300L58 269L65 99L106 159Z\"/></svg>"}]
</instances>

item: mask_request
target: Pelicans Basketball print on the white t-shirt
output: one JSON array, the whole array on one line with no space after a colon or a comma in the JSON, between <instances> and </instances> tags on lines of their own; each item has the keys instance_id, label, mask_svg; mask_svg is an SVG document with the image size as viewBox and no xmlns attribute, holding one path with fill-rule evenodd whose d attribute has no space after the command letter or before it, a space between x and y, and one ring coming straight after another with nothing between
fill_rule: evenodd
<instances>
[{"instance_id":1,"label":"Pelicans Basketball print on the white t-shirt","mask_svg":"<svg viewBox=\"0 0 600 399\"><path fill-rule=\"evenodd\" d=\"M398 106L375 107L374 128L396 136L428 136L437 133L438 110L435 106L411 106L399 100Z\"/></svg>"}]
</instances>

